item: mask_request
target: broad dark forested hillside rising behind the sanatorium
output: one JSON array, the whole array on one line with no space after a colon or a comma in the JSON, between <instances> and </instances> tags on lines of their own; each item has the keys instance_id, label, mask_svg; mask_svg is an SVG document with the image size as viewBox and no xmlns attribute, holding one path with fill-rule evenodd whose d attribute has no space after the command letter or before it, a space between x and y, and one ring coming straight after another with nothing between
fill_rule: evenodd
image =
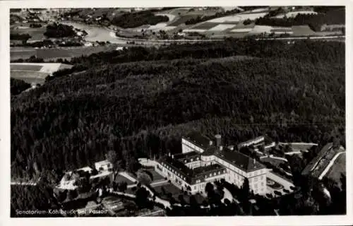
<instances>
[{"instance_id":1,"label":"broad dark forested hillside rising behind the sanatorium","mask_svg":"<svg viewBox=\"0 0 353 226\"><path fill-rule=\"evenodd\" d=\"M90 69L11 99L11 175L89 165L110 149L128 161L176 153L191 129L226 142L268 133L314 143L335 134L345 143L344 44L258 42L237 52L231 44L144 49L140 57L128 50L110 64L109 54L72 61ZM275 53L280 47L292 52ZM252 57L221 59L244 53Z\"/></svg>"}]
</instances>

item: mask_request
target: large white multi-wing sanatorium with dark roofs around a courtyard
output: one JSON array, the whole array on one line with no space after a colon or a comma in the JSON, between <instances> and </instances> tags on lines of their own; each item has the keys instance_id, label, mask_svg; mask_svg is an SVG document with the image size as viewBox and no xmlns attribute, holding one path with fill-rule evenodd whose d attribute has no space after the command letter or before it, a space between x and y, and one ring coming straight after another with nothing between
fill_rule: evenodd
<instances>
[{"instance_id":1,"label":"large white multi-wing sanatorium with dark roofs around a courtyard","mask_svg":"<svg viewBox=\"0 0 353 226\"><path fill-rule=\"evenodd\" d=\"M241 147L259 145L263 137L241 143ZM191 193L205 191L208 182L225 179L242 186L244 179L254 194L266 194L266 168L255 159L222 145L220 135L211 140L197 132L181 138L182 153L158 160L155 170L179 189Z\"/></svg>"}]
</instances>

